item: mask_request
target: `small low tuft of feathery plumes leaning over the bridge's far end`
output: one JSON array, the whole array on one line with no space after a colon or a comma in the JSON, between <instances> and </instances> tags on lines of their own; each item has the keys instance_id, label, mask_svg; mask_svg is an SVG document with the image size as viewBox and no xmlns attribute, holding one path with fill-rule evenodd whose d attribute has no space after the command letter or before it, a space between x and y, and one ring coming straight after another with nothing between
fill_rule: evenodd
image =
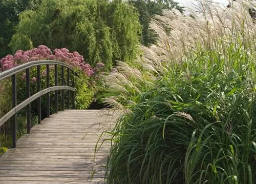
<instances>
[{"instance_id":1,"label":"small low tuft of feathery plumes leaning over the bridge's far end","mask_svg":"<svg viewBox=\"0 0 256 184\"><path fill-rule=\"evenodd\" d=\"M137 66L142 69L143 61L138 58ZM104 103L109 107L118 110L127 111L136 104L142 92L147 91L153 85L154 67L147 64L143 71L132 68L124 62L117 62L117 67L110 74L105 75L105 84L115 91L116 96L110 96L104 99Z\"/></svg>"}]
</instances>

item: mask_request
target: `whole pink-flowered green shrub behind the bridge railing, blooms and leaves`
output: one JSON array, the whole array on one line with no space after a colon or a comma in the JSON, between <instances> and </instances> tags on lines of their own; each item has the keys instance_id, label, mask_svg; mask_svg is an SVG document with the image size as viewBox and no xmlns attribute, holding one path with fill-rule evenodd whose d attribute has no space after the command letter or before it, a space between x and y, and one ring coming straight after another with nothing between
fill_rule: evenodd
<instances>
[{"instance_id":1,"label":"whole pink-flowered green shrub behind the bridge railing, blooms and leaves","mask_svg":"<svg viewBox=\"0 0 256 184\"><path fill-rule=\"evenodd\" d=\"M47 48L46 46L39 46L32 50L22 51L18 50L14 55L7 55L6 57L0 60L1 71L9 70L17 65L24 64L30 61L43 60L43 59L53 59L59 60L61 62L65 62L68 64L74 71L70 72L70 81L69 84L72 86L74 79L74 88L75 92L75 108L77 109L87 109L92 103L94 96L94 88L95 84L98 83L98 79L100 78L101 72L104 69L104 65L102 63L98 63L95 68L92 68L89 64L86 64L83 60L83 57L77 52L69 52L68 49L55 49L53 52ZM50 74L50 87L55 86L55 70L54 66L49 66L49 74ZM58 75L58 86L61 85L61 66L57 66L57 75ZM64 85L68 83L68 73L65 68L64 71ZM30 79L30 95L34 95L38 92L37 89L37 67L31 67L29 69L29 79ZM41 81L41 89L47 88L47 78L46 78L46 66L40 66L40 81ZM27 99L26 93L26 72L19 72L17 74L17 104L22 103L25 99ZM12 102L12 82L11 78L5 79L1 81L1 93L0 93L0 117L3 117L6 113L8 113L12 106L10 103ZM55 113L55 93L50 93L50 112L51 114ZM61 110L61 99L62 93L58 93L58 110ZM46 103L46 95L41 97L41 115L42 119L46 117L47 112L47 103ZM72 97L72 92L71 92ZM67 109L67 101L68 101L68 93L65 90L65 109ZM32 126L37 124L37 100L31 103L31 115L32 115ZM71 108L72 104L71 104ZM17 114L17 137L22 136L26 133L27 129L27 120L26 120L26 110L23 109ZM9 141L9 133L12 129L11 120L8 120L0 129L0 135L6 137L1 144L4 144L6 147L11 146L11 142Z\"/></svg>"}]
</instances>

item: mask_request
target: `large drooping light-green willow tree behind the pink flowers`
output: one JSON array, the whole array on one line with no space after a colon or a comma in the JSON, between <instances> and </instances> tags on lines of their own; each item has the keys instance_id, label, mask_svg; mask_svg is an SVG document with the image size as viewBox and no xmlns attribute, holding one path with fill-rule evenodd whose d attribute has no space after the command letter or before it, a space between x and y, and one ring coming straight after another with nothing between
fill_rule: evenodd
<instances>
[{"instance_id":1,"label":"large drooping light-green willow tree behind the pink flowers","mask_svg":"<svg viewBox=\"0 0 256 184\"><path fill-rule=\"evenodd\" d=\"M135 57L141 27L133 6L107 0L43 0L20 15L11 48L46 45L78 51L86 62L111 68L115 59Z\"/></svg>"}]
</instances>

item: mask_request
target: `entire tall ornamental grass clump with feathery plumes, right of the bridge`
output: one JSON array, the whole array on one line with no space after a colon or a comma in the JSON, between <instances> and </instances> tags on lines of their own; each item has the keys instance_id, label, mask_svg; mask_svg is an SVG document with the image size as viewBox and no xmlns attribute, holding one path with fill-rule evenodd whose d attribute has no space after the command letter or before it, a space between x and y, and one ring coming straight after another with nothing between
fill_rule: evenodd
<instances>
[{"instance_id":1,"label":"entire tall ornamental grass clump with feathery plumes, right of the bridge","mask_svg":"<svg viewBox=\"0 0 256 184\"><path fill-rule=\"evenodd\" d=\"M106 76L120 93L106 101L125 110L108 183L256 183L256 25L237 5L156 16L140 75L121 65Z\"/></svg>"}]
</instances>

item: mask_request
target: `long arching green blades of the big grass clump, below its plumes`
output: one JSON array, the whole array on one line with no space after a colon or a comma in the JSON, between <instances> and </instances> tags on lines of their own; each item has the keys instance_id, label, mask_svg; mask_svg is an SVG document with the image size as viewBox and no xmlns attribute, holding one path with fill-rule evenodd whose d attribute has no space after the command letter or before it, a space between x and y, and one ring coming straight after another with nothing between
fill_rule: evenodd
<instances>
[{"instance_id":1,"label":"long arching green blades of the big grass clump, below its plumes","mask_svg":"<svg viewBox=\"0 0 256 184\"><path fill-rule=\"evenodd\" d=\"M197 53L197 60L184 64L197 75L187 78L179 75L186 69L178 69L174 76L159 76L156 87L126 106L131 113L111 133L108 183L253 183L255 63L243 52L247 59L229 63L228 72L221 60L212 68L208 54L220 57ZM198 68L201 62L206 70ZM240 70L240 64L247 67Z\"/></svg>"}]
</instances>

